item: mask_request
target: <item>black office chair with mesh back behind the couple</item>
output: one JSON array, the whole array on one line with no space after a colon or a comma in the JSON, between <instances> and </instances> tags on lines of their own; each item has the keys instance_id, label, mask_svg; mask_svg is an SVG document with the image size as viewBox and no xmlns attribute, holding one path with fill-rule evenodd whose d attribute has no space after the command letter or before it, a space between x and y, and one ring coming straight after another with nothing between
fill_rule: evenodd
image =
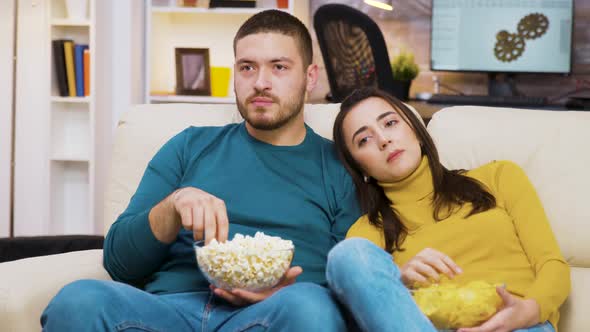
<instances>
[{"instance_id":1,"label":"black office chair with mesh back behind the couple","mask_svg":"<svg viewBox=\"0 0 590 332\"><path fill-rule=\"evenodd\" d=\"M326 4L316 11L313 26L328 74L330 101L341 102L367 86L400 95L383 34L369 16L346 5Z\"/></svg>"}]
</instances>

